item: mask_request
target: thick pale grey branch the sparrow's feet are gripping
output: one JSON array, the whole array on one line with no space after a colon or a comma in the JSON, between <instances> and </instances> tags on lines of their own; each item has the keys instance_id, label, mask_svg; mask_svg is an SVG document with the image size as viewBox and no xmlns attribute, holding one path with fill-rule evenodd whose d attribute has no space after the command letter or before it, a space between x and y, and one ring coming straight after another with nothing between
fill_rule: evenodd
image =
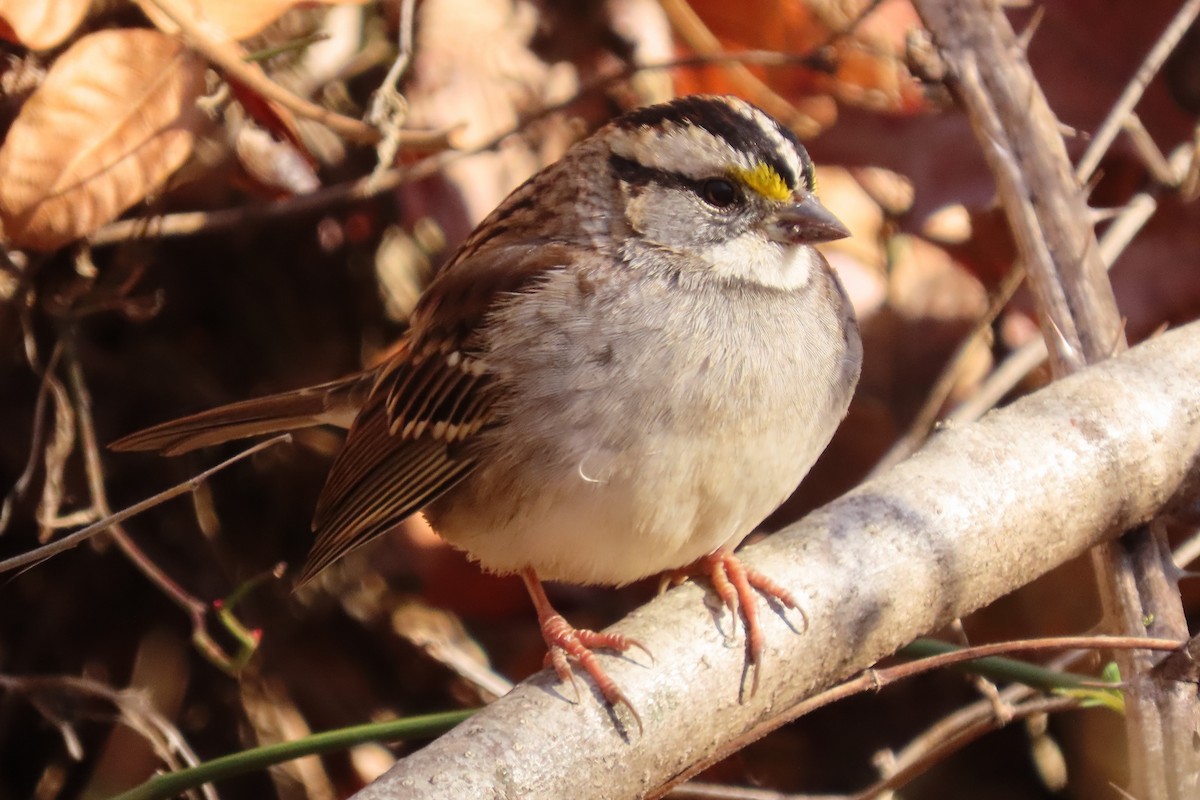
<instances>
[{"instance_id":1,"label":"thick pale grey branch the sparrow's feet are gripping","mask_svg":"<svg viewBox=\"0 0 1200 800\"><path fill-rule=\"evenodd\" d=\"M757 694L710 593L671 590L614 630L655 663L601 656L644 734L539 673L358 800L653 795L804 698L1182 503L1200 488L1200 323L952 427L888 474L744 551L800 597L766 614ZM707 606L706 606L707 597ZM799 627L799 622L793 620Z\"/></svg>"}]
</instances>

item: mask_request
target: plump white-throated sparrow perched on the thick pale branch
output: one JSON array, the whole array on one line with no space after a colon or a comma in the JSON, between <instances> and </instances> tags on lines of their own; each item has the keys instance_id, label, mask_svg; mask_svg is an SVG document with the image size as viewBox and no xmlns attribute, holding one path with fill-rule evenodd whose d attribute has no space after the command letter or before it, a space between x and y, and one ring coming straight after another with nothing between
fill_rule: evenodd
<instances>
[{"instance_id":1,"label":"plump white-throated sparrow perched on the thick pale branch","mask_svg":"<svg viewBox=\"0 0 1200 800\"><path fill-rule=\"evenodd\" d=\"M553 663L629 705L541 579L703 569L762 638L733 548L804 477L858 380L853 312L814 242L848 235L796 137L733 97L620 116L504 200L421 296L379 367L134 433L181 453L349 428L300 581L424 510L484 567L520 573Z\"/></svg>"}]
</instances>

